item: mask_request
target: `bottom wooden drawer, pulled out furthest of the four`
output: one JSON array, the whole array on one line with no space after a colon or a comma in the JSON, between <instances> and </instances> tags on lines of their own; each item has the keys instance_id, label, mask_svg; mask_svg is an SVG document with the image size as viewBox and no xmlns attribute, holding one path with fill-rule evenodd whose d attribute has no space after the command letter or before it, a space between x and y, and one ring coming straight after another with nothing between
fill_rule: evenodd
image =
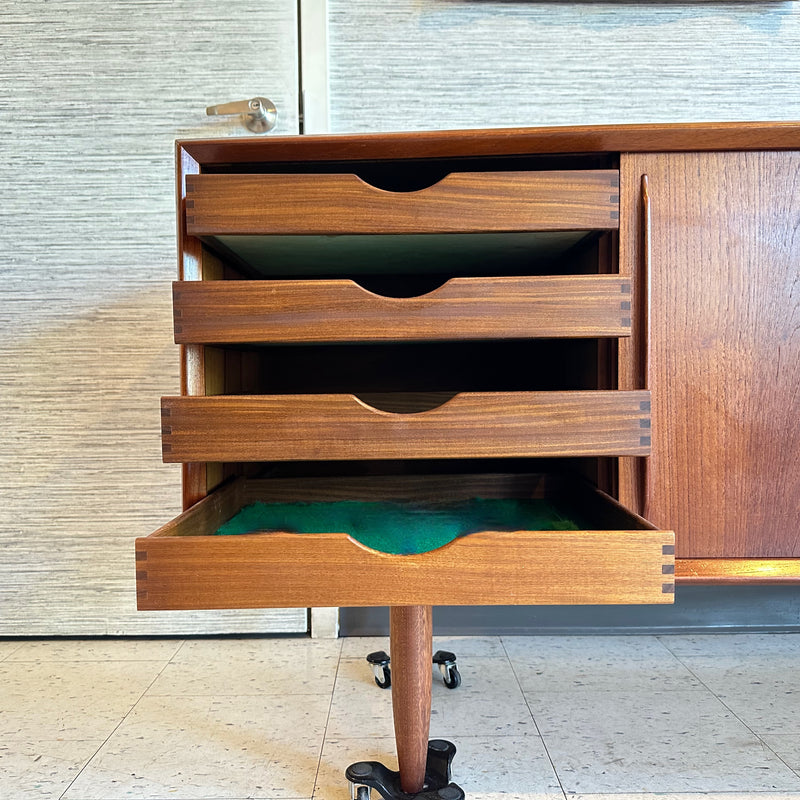
<instances>
[{"instance_id":1,"label":"bottom wooden drawer, pulled out furthest of the four","mask_svg":"<svg viewBox=\"0 0 800 800\"><path fill-rule=\"evenodd\" d=\"M431 509L544 499L574 530L476 530L429 552L370 549L347 533L215 535L239 510L341 500ZM136 540L139 608L671 603L674 537L572 479L531 475L237 479Z\"/></svg>"}]
</instances>

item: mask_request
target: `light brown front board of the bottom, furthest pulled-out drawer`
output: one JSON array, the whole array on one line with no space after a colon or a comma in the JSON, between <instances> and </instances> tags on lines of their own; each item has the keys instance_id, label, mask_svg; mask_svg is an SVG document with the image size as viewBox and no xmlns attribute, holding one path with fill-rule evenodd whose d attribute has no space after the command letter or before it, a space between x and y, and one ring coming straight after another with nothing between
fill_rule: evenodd
<instances>
[{"instance_id":1,"label":"light brown front board of the bottom, furthest pulled-out drawer","mask_svg":"<svg viewBox=\"0 0 800 800\"><path fill-rule=\"evenodd\" d=\"M392 556L343 533L137 539L139 608L669 603L662 546L672 541L653 531L486 531Z\"/></svg>"}]
</instances>

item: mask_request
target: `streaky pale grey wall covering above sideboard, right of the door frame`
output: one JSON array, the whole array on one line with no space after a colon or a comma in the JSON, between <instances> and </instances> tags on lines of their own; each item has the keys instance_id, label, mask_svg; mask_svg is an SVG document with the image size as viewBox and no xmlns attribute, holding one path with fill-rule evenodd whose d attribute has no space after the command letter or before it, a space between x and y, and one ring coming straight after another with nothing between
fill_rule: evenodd
<instances>
[{"instance_id":1,"label":"streaky pale grey wall covering above sideboard, right of the door frame","mask_svg":"<svg viewBox=\"0 0 800 800\"><path fill-rule=\"evenodd\" d=\"M329 7L337 132L800 119L800 3Z\"/></svg>"}]
</instances>

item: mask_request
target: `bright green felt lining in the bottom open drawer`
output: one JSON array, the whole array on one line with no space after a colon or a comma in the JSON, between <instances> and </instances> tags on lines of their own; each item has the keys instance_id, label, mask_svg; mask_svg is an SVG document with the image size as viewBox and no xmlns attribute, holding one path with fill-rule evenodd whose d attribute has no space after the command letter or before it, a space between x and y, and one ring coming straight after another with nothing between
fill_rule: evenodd
<instances>
[{"instance_id":1,"label":"bright green felt lining in the bottom open drawer","mask_svg":"<svg viewBox=\"0 0 800 800\"><path fill-rule=\"evenodd\" d=\"M373 550L398 555L426 553L459 536L482 530L579 530L546 500L474 498L460 503L341 500L314 503L253 503L216 533L347 533Z\"/></svg>"}]
</instances>

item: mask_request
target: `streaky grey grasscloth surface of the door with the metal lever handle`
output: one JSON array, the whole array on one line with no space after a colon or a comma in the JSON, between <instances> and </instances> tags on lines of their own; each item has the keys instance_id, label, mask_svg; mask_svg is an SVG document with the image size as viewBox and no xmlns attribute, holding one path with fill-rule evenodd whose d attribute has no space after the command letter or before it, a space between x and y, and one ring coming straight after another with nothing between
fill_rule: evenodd
<instances>
[{"instance_id":1,"label":"streaky grey grasscloth surface of the door with the metal lever handle","mask_svg":"<svg viewBox=\"0 0 800 800\"><path fill-rule=\"evenodd\" d=\"M0 635L305 629L305 611L139 614L133 539L179 510L173 140L297 131L295 3L0 11Z\"/></svg>"}]
</instances>

